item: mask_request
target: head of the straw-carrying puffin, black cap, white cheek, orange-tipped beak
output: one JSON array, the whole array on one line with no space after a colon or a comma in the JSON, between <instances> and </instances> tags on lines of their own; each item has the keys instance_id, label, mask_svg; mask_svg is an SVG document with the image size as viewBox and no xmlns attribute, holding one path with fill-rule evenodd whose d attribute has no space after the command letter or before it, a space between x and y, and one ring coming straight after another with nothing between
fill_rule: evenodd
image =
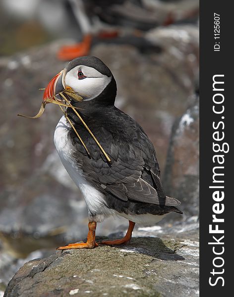
<instances>
[{"instance_id":1,"label":"head of the straw-carrying puffin, black cap, white cheek, orange-tipped beak","mask_svg":"<svg viewBox=\"0 0 234 297\"><path fill-rule=\"evenodd\" d=\"M48 85L44 99L71 89L82 102L114 105L117 86L111 70L95 56L83 56L69 62Z\"/></svg>"}]
</instances>

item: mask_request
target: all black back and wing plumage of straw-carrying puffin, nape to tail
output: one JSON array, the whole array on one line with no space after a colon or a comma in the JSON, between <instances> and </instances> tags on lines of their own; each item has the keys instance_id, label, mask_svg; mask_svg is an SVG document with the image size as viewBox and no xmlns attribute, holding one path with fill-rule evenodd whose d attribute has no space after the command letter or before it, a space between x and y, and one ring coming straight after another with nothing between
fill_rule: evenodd
<instances>
[{"instance_id":1,"label":"all black back and wing plumage of straw-carrying puffin, nape to tail","mask_svg":"<svg viewBox=\"0 0 234 297\"><path fill-rule=\"evenodd\" d=\"M79 104L73 102L73 105ZM179 202L165 196L155 149L143 129L115 106L92 104L88 112L85 110L80 112L81 116L112 162L107 162L88 131L69 110L68 116L91 153L90 158L71 129L73 156L85 179L105 194L108 205L121 212L130 208L155 214L176 211L173 206Z\"/></svg>"}]
</instances>

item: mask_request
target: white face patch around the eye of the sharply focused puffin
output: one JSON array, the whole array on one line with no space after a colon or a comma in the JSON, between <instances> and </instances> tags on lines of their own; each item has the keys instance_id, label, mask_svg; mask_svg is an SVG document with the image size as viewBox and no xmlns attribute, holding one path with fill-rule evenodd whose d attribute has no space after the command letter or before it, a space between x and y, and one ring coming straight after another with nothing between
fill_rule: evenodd
<instances>
[{"instance_id":1,"label":"white face patch around the eye of the sharply focused puffin","mask_svg":"<svg viewBox=\"0 0 234 297\"><path fill-rule=\"evenodd\" d=\"M79 69L85 78L78 78ZM65 85L72 88L73 91L77 92L87 101L99 96L109 85L111 79L112 77L108 77L92 67L79 65L67 72L65 75Z\"/></svg>"}]
</instances>

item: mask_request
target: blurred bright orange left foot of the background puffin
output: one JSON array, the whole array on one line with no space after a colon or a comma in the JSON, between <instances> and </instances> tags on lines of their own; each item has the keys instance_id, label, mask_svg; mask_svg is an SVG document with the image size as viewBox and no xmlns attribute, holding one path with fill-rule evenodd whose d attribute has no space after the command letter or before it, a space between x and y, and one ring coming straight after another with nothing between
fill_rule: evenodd
<instances>
[{"instance_id":1,"label":"blurred bright orange left foot of the background puffin","mask_svg":"<svg viewBox=\"0 0 234 297\"><path fill-rule=\"evenodd\" d=\"M58 51L58 59L72 60L74 58L88 55L91 47L92 35L86 34L83 40L72 46L64 46Z\"/></svg>"}]
</instances>

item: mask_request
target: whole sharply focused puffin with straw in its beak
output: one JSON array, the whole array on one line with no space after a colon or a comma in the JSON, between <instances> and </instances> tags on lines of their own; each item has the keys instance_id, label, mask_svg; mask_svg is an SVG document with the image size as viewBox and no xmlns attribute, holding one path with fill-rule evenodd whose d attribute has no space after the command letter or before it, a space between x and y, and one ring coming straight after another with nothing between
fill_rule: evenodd
<instances>
[{"instance_id":1,"label":"whole sharply focused puffin with straw in its beak","mask_svg":"<svg viewBox=\"0 0 234 297\"><path fill-rule=\"evenodd\" d=\"M131 240L135 223L155 224L170 212L182 214L176 207L180 202L165 195L153 144L142 127L115 106L116 80L103 61L95 56L70 61L49 82L44 91L44 102L53 96L56 96L53 100L62 101L58 94L64 90L72 90L82 100L66 95L69 104L78 109L74 112L74 108L66 108L67 118L63 115L58 121L54 143L63 166L83 194L88 208L89 230L86 243L68 244L58 249L125 245ZM110 216L129 221L126 235L122 239L96 242L97 223Z\"/></svg>"}]
</instances>

